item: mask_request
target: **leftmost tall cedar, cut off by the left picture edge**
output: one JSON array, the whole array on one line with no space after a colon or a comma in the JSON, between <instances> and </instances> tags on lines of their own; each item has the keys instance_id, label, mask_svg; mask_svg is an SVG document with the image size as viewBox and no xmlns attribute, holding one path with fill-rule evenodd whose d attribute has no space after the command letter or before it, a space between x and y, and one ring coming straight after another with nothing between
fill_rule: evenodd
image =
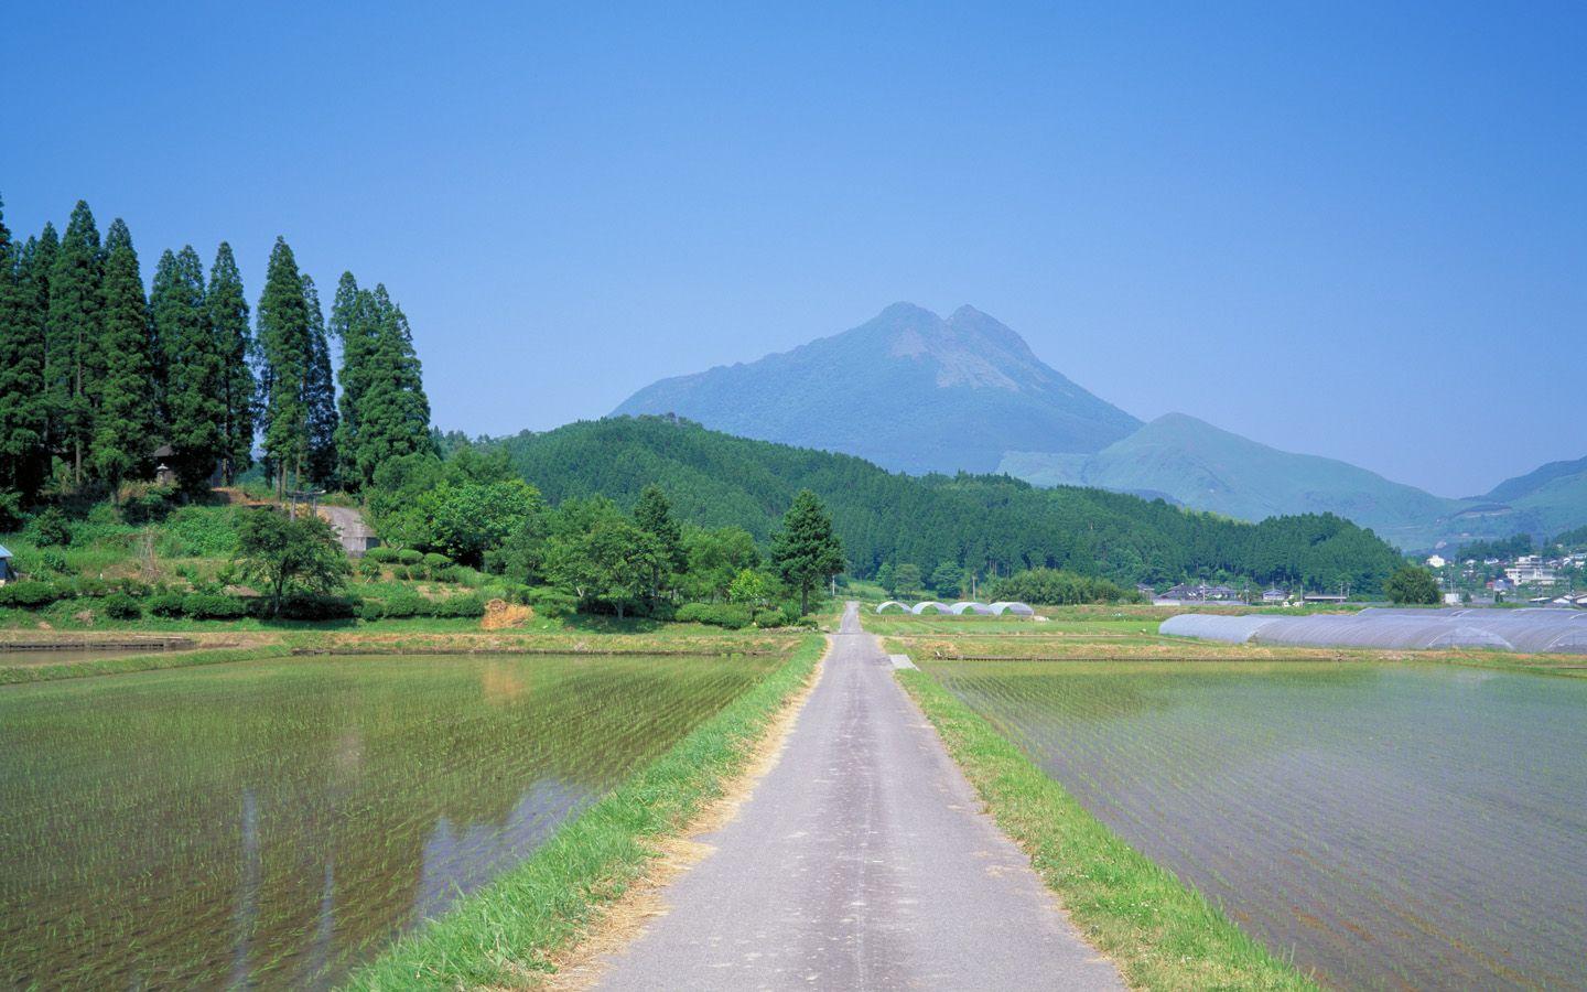
<instances>
[{"instance_id":1,"label":"leftmost tall cedar, cut off by the left picture edge","mask_svg":"<svg viewBox=\"0 0 1587 992\"><path fill-rule=\"evenodd\" d=\"M38 306L38 244L11 240L0 214L0 494L38 495L44 449L44 314Z\"/></svg>"}]
</instances>

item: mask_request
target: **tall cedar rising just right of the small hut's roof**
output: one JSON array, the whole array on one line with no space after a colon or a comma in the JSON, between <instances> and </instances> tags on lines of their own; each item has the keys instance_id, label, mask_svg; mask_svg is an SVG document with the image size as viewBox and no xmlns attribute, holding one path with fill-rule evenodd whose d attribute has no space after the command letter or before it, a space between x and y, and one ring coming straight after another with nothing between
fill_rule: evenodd
<instances>
[{"instance_id":1,"label":"tall cedar rising just right of the small hut's roof","mask_svg":"<svg viewBox=\"0 0 1587 992\"><path fill-rule=\"evenodd\" d=\"M167 362L171 468L183 492L200 494L225 457L225 356L209 327L203 262L190 244L167 251L154 273L154 327Z\"/></svg>"}]
</instances>

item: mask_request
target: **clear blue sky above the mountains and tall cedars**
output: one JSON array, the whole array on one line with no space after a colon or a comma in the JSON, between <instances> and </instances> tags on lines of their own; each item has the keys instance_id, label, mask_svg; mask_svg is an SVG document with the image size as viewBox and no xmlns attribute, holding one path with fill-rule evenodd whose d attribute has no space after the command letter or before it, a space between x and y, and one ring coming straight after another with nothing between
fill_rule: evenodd
<instances>
[{"instance_id":1,"label":"clear blue sky above the mountains and tall cedars","mask_svg":"<svg viewBox=\"0 0 1587 992\"><path fill-rule=\"evenodd\" d=\"M468 433L911 300L1441 495L1587 456L1579 2L349 6L13 5L8 224L282 233Z\"/></svg>"}]
</instances>

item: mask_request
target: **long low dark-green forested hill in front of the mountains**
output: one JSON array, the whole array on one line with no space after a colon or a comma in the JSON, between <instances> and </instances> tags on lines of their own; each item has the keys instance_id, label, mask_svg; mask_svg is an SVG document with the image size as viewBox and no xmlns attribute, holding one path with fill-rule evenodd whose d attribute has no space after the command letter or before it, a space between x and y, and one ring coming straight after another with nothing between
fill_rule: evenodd
<instances>
[{"instance_id":1,"label":"long low dark-green forested hill in front of the mountains","mask_svg":"<svg viewBox=\"0 0 1587 992\"><path fill-rule=\"evenodd\" d=\"M852 456L752 441L670 417L581 421L486 441L552 503L605 494L632 505L660 484L678 514L765 540L800 489L832 509L851 573L884 562L927 575L954 562L981 575L1070 568L1116 581L1222 573L1258 583L1378 589L1398 554L1330 514L1246 524L1100 489L1038 489L1006 476L906 476Z\"/></svg>"}]
</instances>

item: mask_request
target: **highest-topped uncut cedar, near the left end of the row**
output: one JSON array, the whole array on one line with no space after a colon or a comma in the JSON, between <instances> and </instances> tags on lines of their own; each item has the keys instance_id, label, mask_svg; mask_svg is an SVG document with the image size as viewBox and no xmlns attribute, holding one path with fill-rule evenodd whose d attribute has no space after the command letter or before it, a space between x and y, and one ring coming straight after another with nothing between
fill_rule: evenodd
<instances>
[{"instance_id":1,"label":"highest-topped uncut cedar, near the left end of the row","mask_svg":"<svg viewBox=\"0 0 1587 992\"><path fill-rule=\"evenodd\" d=\"M89 205L78 200L49 273L49 324L44 356L44 402L51 441L71 459L73 479L94 430L94 397L100 371L103 257Z\"/></svg>"}]
</instances>

